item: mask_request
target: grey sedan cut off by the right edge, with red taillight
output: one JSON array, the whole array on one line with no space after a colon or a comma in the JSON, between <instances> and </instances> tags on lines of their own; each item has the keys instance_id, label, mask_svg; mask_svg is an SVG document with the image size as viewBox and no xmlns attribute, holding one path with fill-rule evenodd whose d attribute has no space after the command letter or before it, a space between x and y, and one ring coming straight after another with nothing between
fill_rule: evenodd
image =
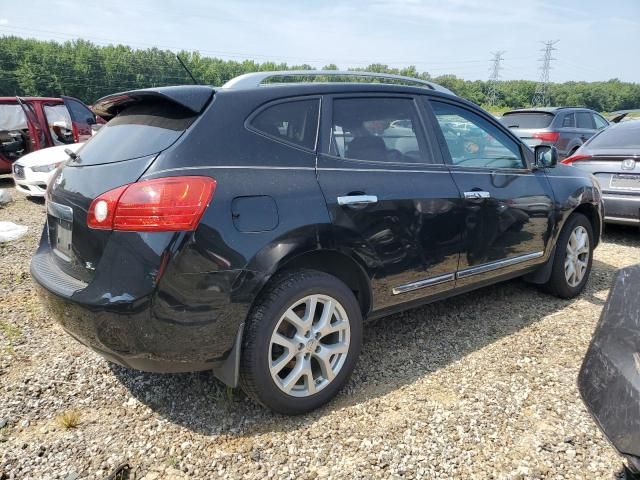
<instances>
[{"instance_id":1,"label":"grey sedan cut off by the right edge, with red taillight","mask_svg":"<svg viewBox=\"0 0 640 480\"><path fill-rule=\"evenodd\" d=\"M610 126L562 163L596 176L605 222L640 225L640 120Z\"/></svg>"}]
</instances>

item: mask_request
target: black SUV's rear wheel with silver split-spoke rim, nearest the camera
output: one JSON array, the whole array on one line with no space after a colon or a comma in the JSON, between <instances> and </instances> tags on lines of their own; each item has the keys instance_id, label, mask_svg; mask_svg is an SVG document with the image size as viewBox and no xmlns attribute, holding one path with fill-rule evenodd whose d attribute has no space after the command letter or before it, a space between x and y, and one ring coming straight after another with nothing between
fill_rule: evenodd
<instances>
[{"instance_id":1,"label":"black SUV's rear wheel with silver split-spoke rim, nearest the camera","mask_svg":"<svg viewBox=\"0 0 640 480\"><path fill-rule=\"evenodd\" d=\"M306 413L340 391L361 345L360 306L342 281L314 270L286 272L249 314L240 385L278 413Z\"/></svg>"}]
</instances>

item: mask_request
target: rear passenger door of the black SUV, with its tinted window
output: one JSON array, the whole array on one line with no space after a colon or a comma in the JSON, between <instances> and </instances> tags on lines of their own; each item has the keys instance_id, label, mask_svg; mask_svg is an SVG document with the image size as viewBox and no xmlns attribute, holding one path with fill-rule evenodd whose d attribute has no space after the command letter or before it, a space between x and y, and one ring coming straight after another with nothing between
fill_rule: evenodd
<instances>
[{"instance_id":1,"label":"rear passenger door of the black SUV, with its tinted window","mask_svg":"<svg viewBox=\"0 0 640 480\"><path fill-rule=\"evenodd\" d=\"M367 266L373 309L452 288L460 196L416 98L327 96L321 125L318 180L335 241Z\"/></svg>"}]
</instances>

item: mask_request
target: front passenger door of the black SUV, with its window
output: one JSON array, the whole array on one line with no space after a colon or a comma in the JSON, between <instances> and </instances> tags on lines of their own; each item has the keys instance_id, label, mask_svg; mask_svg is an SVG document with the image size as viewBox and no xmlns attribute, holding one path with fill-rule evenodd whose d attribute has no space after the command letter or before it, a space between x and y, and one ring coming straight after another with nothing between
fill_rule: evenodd
<instances>
[{"instance_id":1,"label":"front passenger door of the black SUV, with its window","mask_svg":"<svg viewBox=\"0 0 640 480\"><path fill-rule=\"evenodd\" d=\"M553 195L521 144L488 114L454 101L425 102L464 197L466 241L456 286L539 263L553 226Z\"/></svg>"}]
</instances>

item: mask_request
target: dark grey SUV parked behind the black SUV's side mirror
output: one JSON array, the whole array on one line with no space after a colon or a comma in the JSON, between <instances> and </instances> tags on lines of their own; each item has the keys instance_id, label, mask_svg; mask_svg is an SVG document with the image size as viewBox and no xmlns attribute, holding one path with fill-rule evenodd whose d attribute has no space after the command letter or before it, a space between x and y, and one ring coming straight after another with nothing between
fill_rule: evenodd
<instances>
[{"instance_id":1,"label":"dark grey SUV parked behind the black SUV's side mirror","mask_svg":"<svg viewBox=\"0 0 640 480\"><path fill-rule=\"evenodd\" d=\"M553 145L560 158L573 155L598 130L609 126L599 113L578 107L511 110L500 121L530 147Z\"/></svg>"}]
</instances>

